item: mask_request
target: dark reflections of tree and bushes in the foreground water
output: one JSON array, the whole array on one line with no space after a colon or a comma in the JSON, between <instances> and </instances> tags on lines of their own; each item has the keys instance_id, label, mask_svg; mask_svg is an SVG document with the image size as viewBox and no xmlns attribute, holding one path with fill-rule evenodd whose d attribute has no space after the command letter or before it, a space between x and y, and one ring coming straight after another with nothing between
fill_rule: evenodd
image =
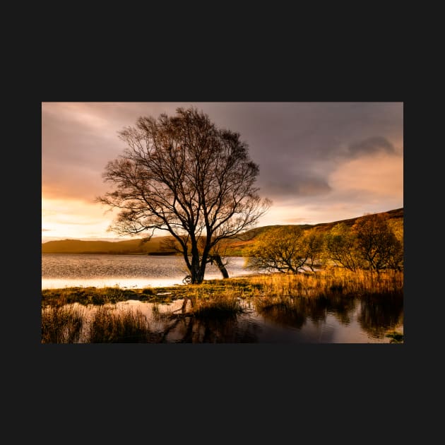
<instances>
[{"instance_id":1,"label":"dark reflections of tree and bushes in the foreground water","mask_svg":"<svg viewBox=\"0 0 445 445\"><path fill-rule=\"evenodd\" d=\"M246 312L248 309L252 312L251 316ZM362 331L373 338L382 338L388 330L403 323L403 297L388 295L360 298L344 295L262 297L246 304L244 314L217 313L218 316L191 313L185 301L179 313L177 310L158 314L163 318L163 328L157 338L152 338L153 343L267 342L268 339L264 338L264 328L267 331L264 321L287 330L300 330L307 321L324 328L329 315L345 326L356 319ZM290 336L296 335L295 331L289 333Z\"/></svg>"}]
</instances>

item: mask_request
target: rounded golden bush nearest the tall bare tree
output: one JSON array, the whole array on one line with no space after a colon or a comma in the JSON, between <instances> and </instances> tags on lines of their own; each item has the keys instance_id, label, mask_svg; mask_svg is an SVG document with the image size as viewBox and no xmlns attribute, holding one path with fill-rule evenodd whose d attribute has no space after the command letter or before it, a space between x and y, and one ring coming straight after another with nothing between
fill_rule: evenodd
<instances>
[{"instance_id":1,"label":"rounded golden bush nearest the tall bare tree","mask_svg":"<svg viewBox=\"0 0 445 445\"><path fill-rule=\"evenodd\" d=\"M321 255L321 235L304 232L302 227L273 227L256 239L247 249L247 268L299 273L305 266L314 271Z\"/></svg>"}]
</instances>

